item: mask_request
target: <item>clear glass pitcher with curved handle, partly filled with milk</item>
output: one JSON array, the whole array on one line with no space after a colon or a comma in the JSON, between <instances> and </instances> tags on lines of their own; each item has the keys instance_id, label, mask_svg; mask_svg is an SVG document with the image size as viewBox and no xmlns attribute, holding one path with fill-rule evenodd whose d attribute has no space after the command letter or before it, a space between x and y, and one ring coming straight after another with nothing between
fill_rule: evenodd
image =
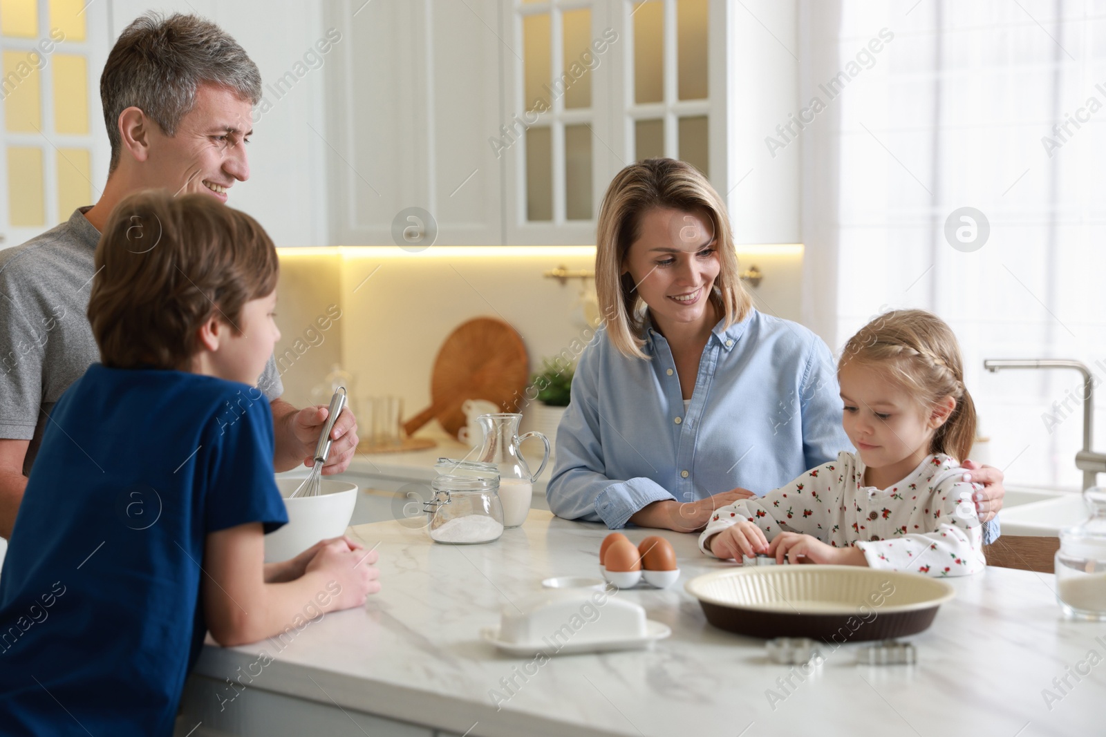
<instances>
[{"instance_id":1,"label":"clear glass pitcher with curved handle, partly filled with milk","mask_svg":"<svg viewBox=\"0 0 1106 737\"><path fill-rule=\"evenodd\" d=\"M510 412L477 418L483 432L483 446L477 452L476 460L493 463L499 470L499 499L503 504L504 527L518 527L526 520L534 481L542 475L550 460L550 439L540 432L519 435L521 421L521 414ZM545 455L534 474L530 473L530 464L519 449L528 438L538 438L545 443Z\"/></svg>"}]
</instances>

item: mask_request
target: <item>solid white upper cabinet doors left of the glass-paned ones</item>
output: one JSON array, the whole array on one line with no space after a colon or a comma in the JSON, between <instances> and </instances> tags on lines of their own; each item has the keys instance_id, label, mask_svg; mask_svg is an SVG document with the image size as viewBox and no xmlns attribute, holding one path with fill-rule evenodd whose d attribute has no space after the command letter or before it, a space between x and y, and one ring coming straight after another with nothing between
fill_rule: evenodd
<instances>
[{"instance_id":1,"label":"solid white upper cabinet doors left of the glass-paned ones","mask_svg":"<svg viewBox=\"0 0 1106 737\"><path fill-rule=\"evenodd\" d=\"M497 0L336 0L324 19L349 35L327 76L332 242L389 244L398 222L413 248L435 223L437 243L501 243Z\"/></svg>"}]
</instances>

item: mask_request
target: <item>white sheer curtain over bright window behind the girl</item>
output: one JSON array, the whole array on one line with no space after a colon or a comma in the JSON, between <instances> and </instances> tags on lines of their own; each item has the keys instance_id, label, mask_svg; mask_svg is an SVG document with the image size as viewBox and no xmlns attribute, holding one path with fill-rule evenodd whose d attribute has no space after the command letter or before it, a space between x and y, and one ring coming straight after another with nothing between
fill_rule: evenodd
<instances>
[{"instance_id":1,"label":"white sheer curtain over bright window behind the girl","mask_svg":"<svg viewBox=\"0 0 1106 737\"><path fill-rule=\"evenodd\" d=\"M1106 450L1106 2L800 9L801 97L825 106L802 133L804 320L839 348L885 309L936 312L1008 485L1079 487L1079 376L982 362L1087 364ZM962 207L990 224L975 251L946 238Z\"/></svg>"}]
</instances>

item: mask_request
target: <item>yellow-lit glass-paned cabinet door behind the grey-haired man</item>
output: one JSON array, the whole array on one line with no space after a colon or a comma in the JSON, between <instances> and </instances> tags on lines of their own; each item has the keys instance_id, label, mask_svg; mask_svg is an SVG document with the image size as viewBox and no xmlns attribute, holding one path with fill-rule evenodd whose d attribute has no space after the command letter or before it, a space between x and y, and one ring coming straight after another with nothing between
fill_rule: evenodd
<instances>
[{"instance_id":1,"label":"yellow-lit glass-paned cabinet door behind the grey-haired man","mask_svg":"<svg viewBox=\"0 0 1106 737\"><path fill-rule=\"evenodd\" d=\"M92 204L107 173L105 3L0 0L0 248Z\"/></svg>"}]
</instances>

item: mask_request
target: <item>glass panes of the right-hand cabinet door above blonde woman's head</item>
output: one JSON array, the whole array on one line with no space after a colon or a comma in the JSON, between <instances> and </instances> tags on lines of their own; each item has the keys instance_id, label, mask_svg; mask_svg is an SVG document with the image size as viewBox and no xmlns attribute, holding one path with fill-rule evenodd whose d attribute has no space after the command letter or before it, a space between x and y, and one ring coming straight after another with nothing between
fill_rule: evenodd
<instances>
[{"instance_id":1,"label":"glass panes of the right-hand cabinet door above blonde woman's head","mask_svg":"<svg viewBox=\"0 0 1106 737\"><path fill-rule=\"evenodd\" d=\"M627 151L667 156L710 177L709 0L632 2ZM724 54L723 54L724 57Z\"/></svg>"}]
</instances>

